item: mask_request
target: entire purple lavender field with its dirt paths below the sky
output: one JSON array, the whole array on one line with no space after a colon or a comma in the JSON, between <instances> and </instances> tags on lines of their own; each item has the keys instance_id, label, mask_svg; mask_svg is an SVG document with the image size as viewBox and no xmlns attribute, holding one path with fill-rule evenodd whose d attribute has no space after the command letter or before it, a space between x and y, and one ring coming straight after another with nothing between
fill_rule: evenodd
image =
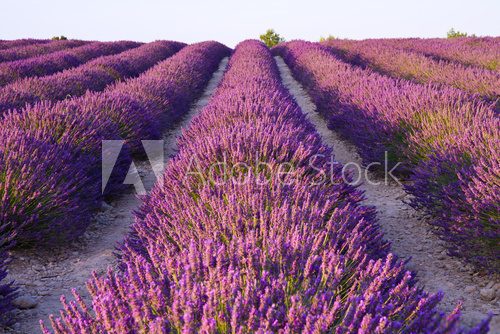
<instances>
[{"instance_id":1,"label":"entire purple lavender field with its dirt paths below the sky","mask_svg":"<svg viewBox=\"0 0 500 334\"><path fill-rule=\"evenodd\" d=\"M0 332L500 333L499 64L0 40Z\"/></svg>"}]
</instances>

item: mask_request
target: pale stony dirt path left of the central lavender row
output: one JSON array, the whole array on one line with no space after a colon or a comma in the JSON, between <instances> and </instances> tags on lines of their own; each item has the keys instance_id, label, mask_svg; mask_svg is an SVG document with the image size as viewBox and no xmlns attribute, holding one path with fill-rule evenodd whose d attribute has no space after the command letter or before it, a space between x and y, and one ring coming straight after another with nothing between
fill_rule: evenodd
<instances>
[{"instance_id":1,"label":"pale stony dirt path left of the central lavender row","mask_svg":"<svg viewBox=\"0 0 500 334\"><path fill-rule=\"evenodd\" d=\"M193 105L189 113L174 129L164 134L164 157L169 159L177 151L176 140L182 128L185 128L209 101L227 66L228 58L221 61L203 95ZM151 189L156 177L149 163L136 163L139 175L146 190ZM14 251L9 265L9 279L16 281L20 294L27 302L36 303L36 307L17 310L16 323L7 333L40 333L39 319L49 323L50 314L59 314L60 296L71 298L71 288L77 287L89 301L84 288L92 271L103 273L108 267L116 266L114 255L116 245L123 240L133 222L133 211L141 201L135 192L123 194L109 204L104 204L95 221L76 242L60 249ZM2 332L2 329L0 329Z\"/></svg>"}]
</instances>

